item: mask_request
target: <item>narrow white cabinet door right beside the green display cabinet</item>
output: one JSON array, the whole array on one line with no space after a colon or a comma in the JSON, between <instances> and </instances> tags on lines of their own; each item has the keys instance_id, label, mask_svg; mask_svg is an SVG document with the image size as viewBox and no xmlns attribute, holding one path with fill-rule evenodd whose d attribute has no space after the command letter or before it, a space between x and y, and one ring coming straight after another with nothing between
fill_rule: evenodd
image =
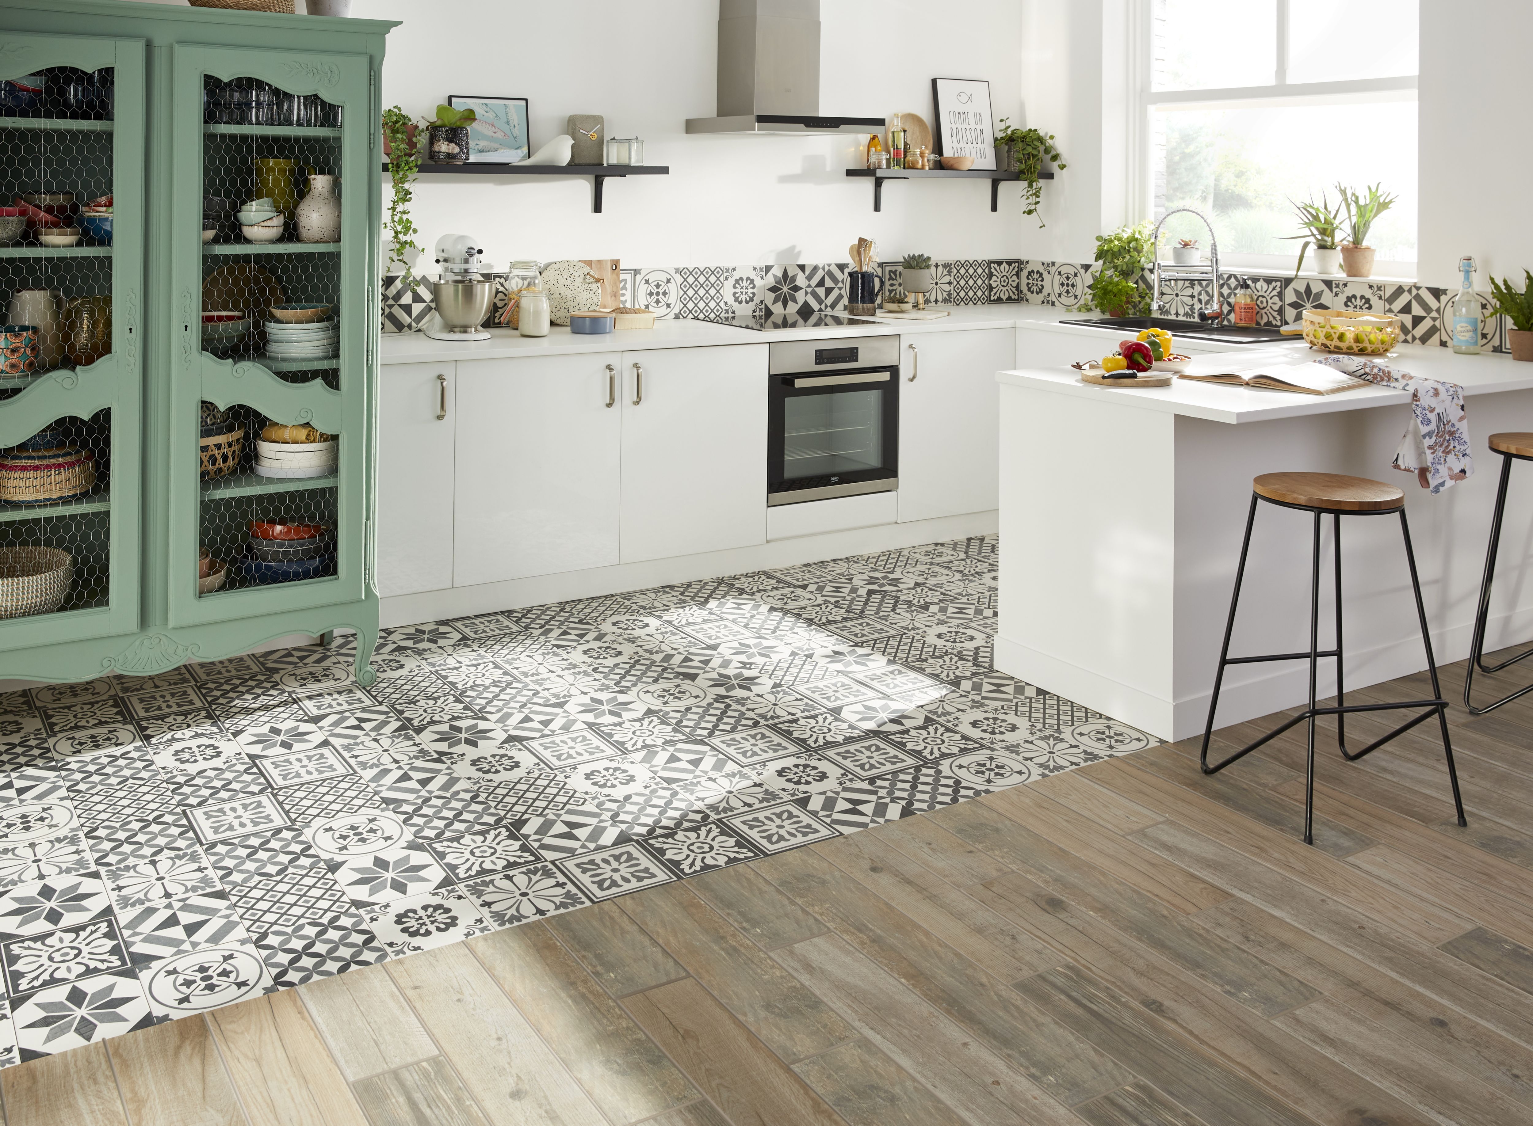
<instances>
[{"instance_id":1,"label":"narrow white cabinet door right beside the green display cabinet","mask_svg":"<svg viewBox=\"0 0 1533 1126\"><path fill-rule=\"evenodd\" d=\"M383 597L452 585L454 366L392 363L379 374L374 585Z\"/></svg>"}]
</instances>

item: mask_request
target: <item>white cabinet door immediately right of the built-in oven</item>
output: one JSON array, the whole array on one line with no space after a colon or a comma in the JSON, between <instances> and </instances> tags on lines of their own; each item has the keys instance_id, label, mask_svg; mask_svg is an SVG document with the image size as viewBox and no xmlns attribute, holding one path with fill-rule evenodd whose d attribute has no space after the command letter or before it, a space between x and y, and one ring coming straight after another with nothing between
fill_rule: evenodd
<instances>
[{"instance_id":1,"label":"white cabinet door immediately right of the built-in oven","mask_svg":"<svg viewBox=\"0 0 1533 1126\"><path fill-rule=\"evenodd\" d=\"M1016 342L1009 328L901 340L901 524L998 506L995 372L1013 366Z\"/></svg>"}]
</instances>

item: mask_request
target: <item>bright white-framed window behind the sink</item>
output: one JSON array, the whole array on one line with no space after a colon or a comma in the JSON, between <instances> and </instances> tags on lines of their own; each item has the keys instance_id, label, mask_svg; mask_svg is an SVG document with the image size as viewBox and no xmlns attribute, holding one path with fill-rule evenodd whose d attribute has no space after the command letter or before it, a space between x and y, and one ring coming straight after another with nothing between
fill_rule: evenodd
<instances>
[{"instance_id":1,"label":"bright white-framed window behind the sink","mask_svg":"<svg viewBox=\"0 0 1533 1126\"><path fill-rule=\"evenodd\" d=\"M1292 201L1380 184L1397 199L1367 239L1375 274L1413 276L1418 0L1142 3L1144 213L1197 208L1223 262L1291 270ZM1164 231L1208 245L1190 214Z\"/></svg>"}]
</instances>

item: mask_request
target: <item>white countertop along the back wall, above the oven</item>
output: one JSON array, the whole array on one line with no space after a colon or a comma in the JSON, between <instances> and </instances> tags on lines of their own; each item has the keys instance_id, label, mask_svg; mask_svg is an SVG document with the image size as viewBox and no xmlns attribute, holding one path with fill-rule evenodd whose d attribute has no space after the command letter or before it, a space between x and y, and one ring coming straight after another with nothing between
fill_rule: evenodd
<instances>
[{"instance_id":1,"label":"white countertop along the back wall, above the oven","mask_svg":"<svg viewBox=\"0 0 1533 1126\"><path fill-rule=\"evenodd\" d=\"M1059 309L1042 305L967 305L957 306L938 320L880 320L877 326L837 329L799 329L753 332L707 320L656 320L655 328L621 329L601 336L575 336L567 328L550 328L546 337L518 336L509 328L492 328L489 340L432 340L425 332L385 332L380 363L445 363L451 360L500 360L517 355L573 355L579 352L632 352L645 348L707 348L710 345L762 345L777 340L819 337L917 336L961 332L978 328L1015 328L1019 322L1052 323Z\"/></svg>"}]
</instances>

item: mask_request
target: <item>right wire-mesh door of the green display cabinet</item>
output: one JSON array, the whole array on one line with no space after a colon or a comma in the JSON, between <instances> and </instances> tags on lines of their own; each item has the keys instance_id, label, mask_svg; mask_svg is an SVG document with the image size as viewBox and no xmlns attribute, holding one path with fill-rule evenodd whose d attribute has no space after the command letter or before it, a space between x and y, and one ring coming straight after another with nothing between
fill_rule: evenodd
<instances>
[{"instance_id":1,"label":"right wire-mesh door of the green display cabinet","mask_svg":"<svg viewBox=\"0 0 1533 1126\"><path fill-rule=\"evenodd\" d=\"M366 60L176 46L175 87L170 620L357 599Z\"/></svg>"}]
</instances>

